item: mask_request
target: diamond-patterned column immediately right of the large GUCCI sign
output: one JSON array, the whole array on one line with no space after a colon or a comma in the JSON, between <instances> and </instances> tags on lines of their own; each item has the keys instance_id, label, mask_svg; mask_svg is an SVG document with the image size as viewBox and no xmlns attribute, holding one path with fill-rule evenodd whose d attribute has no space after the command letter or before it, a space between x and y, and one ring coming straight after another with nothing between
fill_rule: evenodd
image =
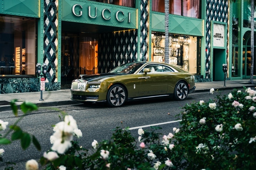
<instances>
[{"instance_id":1,"label":"diamond-patterned column immediately right of the large GUCCI sign","mask_svg":"<svg viewBox=\"0 0 256 170\"><path fill-rule=\"evenodd\" d=\"M149 30L149 1L141 0L140 2L140 60L147 61L148 53L147 47L149 42L148 30Z\"/></svg>"}]
</instances>

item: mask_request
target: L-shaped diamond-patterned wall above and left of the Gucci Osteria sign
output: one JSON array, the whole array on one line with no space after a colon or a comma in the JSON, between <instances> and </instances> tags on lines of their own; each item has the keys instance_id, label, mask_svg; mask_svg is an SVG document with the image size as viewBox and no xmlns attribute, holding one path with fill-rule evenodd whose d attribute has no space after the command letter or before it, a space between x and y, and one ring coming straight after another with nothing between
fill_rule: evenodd
<instances>
[{"instance_id":1,"label":"L-shaped diamond-patterned wall above and left of the Gucci Osteria sign","mask_svg":"<svg viewBox=\"0 0 256 170\"><path fill-rule=\"evenodd\" d=\"M205 78L210 78L211 21L228 22L228 0L206 1L206 54Z\"/></svg>"}]
</instances>

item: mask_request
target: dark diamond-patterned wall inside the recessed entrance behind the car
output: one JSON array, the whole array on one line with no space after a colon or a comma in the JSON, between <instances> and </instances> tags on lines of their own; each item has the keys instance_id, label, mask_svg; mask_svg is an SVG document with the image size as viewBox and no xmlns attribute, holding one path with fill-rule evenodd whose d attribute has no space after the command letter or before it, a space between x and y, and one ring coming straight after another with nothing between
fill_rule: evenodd
<instances>
[{"instance_id":1,"label":"dark diamond-patterned wall inside the recessed entrance behind the car","mask_svg":"<svg viewBox=\"0 0 256 170\"><path fill-rule=\"evenodd\" d=\"M98 72L106 73L120 64L137 61L137 30L99 35Z\"/></svg>"}]
</instances>

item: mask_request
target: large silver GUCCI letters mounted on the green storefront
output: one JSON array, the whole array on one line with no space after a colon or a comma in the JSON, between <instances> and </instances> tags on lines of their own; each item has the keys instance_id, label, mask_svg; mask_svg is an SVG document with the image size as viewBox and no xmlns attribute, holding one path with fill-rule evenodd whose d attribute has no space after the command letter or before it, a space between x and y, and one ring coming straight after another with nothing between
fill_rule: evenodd
<instances>
[{"instance_id":1,"label":"large silver GUCCI letters mounted on the green storefront","mask_svg":"<svg viewBox=\"0 0 256 170\"><path fill-rule=\"evenodd\" d=\"M79 8L79 13L77 14L75 12L75 8ZM75 15L75 16L82 16L82 6L80 4L75 4L73 5L72 7L72 13ZM104 20L110 20L111 18L111 10L108 9L108 8L104 8L102 11L101 11L101 17L104 19ZM88 16L90 18L96 18L97 17L97 7L95 7L95 12L94 14L91 14L91 6L88 6ZM123 11L117 11L116 12L116 20L119 21L119 22L123 22L124 21L124 12ZM128 22L130 22L130 17L131 17L131 13L128 12Z\"/></svg>"}]
</instances>

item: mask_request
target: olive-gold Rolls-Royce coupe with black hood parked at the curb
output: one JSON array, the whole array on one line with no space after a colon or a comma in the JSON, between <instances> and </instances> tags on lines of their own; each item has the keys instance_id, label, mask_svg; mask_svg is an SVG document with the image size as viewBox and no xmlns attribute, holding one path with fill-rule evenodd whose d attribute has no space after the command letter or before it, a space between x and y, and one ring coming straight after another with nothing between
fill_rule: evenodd
<instances>
[{"instance_id":1,"label":"olive-gold Rolls-Royce coupe with black hood parked at the curb","mask_svg":"<svg viewBox=\"0 0 256 170\"><path fill-rule=\"evenodd\" d=\"M107 102L111 107L152 97L185 100L195 90L194 77L173 65L158 62L122 64L108 73L83 75L72 81L71 99Z\"/></svg>"}]
</instances>

